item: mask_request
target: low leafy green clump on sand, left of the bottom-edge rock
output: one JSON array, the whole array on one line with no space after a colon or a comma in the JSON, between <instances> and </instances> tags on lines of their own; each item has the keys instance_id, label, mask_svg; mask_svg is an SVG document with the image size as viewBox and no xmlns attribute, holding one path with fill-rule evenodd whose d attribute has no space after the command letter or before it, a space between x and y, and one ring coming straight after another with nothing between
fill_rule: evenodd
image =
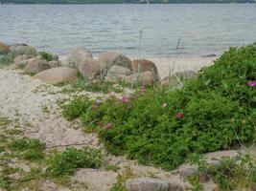
<instances>
[{"instance_id":1,"label":"low leafy green clump on sand, left of the bottom-edge rock","mask_svg":"<svg viewBox=\"0 0 256 191\"><path fill-rule=\"evenodd\" d=\"M99 168L102 159L100 150L88 147L68 148L61 153L55 153L49 159L47 172L54 178L65 178L72 175L77 168Z\"/></svg>"}]
</instances>

